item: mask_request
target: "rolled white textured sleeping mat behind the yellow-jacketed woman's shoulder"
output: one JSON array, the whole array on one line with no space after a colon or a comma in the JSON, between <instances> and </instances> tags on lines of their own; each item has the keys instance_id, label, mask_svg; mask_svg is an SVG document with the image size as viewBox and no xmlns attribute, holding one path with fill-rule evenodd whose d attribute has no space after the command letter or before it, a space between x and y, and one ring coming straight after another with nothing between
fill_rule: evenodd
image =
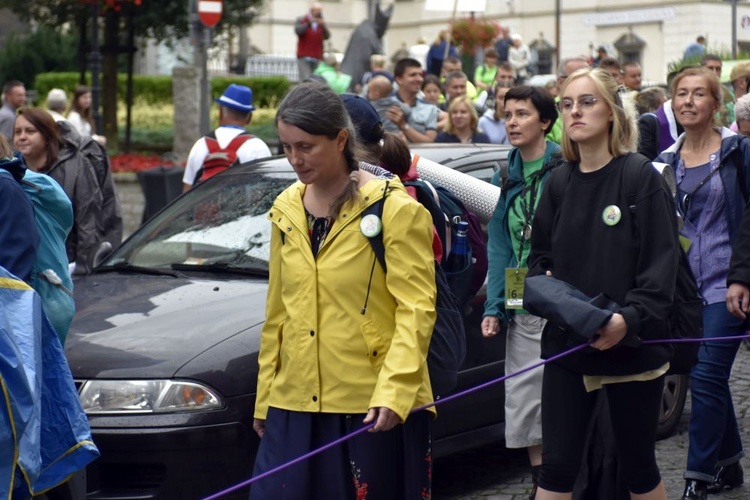
<instances>
[{"instance_id":1,"label":"rolled white textured sleeping mat behind the yellow-jacketed woman's shoulder","mask_svg":"<svg viewBox=\"0 0 750 500\"><path fill-rule=\"evenodd\" d=\"M422 179L451 191L482 222L492 218L500 199L499 187L421 156L417 162L417 172Z\"/></svg>"}]
</instances>

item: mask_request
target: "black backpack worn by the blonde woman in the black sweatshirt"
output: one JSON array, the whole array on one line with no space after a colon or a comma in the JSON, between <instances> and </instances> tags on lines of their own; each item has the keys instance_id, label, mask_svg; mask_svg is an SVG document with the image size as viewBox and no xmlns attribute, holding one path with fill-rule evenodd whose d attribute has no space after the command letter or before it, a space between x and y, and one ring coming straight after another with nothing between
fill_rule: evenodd
<instances>
[{"instance_id":1,"label":"black backpack worn by the blonde woman in the black sweatshirt","mask_svg":"<svg viewBox=\"0 0 750 500\"><path fill-rule=\"evenodd\" d=\"M645 156L633 153L622 166L622 187L628 201L628 210L635 212L636 196L638 193L638 182L641 168L645 166L652 168L651 161ZM671 167L667 167L671 168ZM573 166L565 162L557 172L550 177L547 189L549 189L552 203L555 209L560 206L565 194L565 188ZM669 192L666 183L664 189ZM670 193L670 197L671 197ZM677 206L675 204L675 214ZM633 219L635 221L635 218ZM638 227L633 224L632 231L637 238ZM675 222L675 238L678 238L677 224ZM679 260L677 266L677 281L675 283L672 307L667 318L669 324L670 338L672 339L698 339L703 337L703 298L700 296L698 285L690 269L687 254L678 244ZM670 374L690 373L690 370L698 362L698 342L673 342L674 356L669 362Z\"/></svg>"}]
</instances>

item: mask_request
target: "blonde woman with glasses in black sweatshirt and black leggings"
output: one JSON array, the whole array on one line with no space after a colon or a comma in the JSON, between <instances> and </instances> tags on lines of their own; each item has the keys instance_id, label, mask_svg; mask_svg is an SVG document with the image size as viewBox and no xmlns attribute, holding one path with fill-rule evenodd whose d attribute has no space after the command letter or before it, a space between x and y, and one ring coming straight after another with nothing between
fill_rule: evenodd
<instances>
[{"instance_id":1,"label":"blonde woman with glasses in black sweatshirt and black leggings","mask_svg":"<svg viewBox=\"0 0 750 500\"><path fill-rule=\"evenodd\" d=\"M641 339L668 335L674 292L668 284L675 283L679 255L674 203L648 159L631 153L635 112L612 76L601 69L576 71L561 95L567 163L552 172L542 192L529 275L554 276L589 297L603 294L614 311L590 339L552 322L542 333L545 359L588 346L544 368L536 500L572 497L600 389L631 498L666 500L654 443L672 348L642 345Z\"/></svg>"}]
</instances>

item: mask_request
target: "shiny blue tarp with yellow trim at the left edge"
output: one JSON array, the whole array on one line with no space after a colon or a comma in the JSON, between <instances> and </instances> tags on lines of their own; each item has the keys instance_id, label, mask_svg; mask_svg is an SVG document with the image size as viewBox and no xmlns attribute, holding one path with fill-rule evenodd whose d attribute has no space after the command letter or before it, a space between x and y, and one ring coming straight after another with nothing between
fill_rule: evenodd
<instances>
[{"instance_id":1,"label":"shiny blue tarp with yellow trim at the left edge","mask_svg":"<svg viewBox=\"0 0 750 500\"><path fill-rule=\"evenodd\" d=\"M0 389L0 498L53 488L99 456L39 296L2 267Z\"/></svg>"}]
</instances>

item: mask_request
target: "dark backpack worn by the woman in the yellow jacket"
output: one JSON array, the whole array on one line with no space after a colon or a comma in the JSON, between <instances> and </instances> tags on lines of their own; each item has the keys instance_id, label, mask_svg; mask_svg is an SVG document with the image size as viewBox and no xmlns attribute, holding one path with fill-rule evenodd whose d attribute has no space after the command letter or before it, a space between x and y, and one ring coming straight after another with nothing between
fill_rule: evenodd
<instances>
[{"instance_id":1,"label":"dark backpack worn by the woman in the yellow jacket","mask_svg":"<svg viewBox=\"0 0 750 500\"><path fill-rule=\"evenodd\" d=\"M387 194L388 187L386 186L383 198L367 207L362 213L362 217L372 214L377 215L382 220L383 206ZM368 240L375 253L375 258L380 262L383 271L387 273L385 245L383 244L383 231L385 230L386 228L383 227L377 235L369 237ZM437 260L435 261L435 284L437 286L435 301L437 316L427 354L427 368L430 372L432 394L437 399L455 389L458 383L458 370L466 356L466 335L461 305L451 291L445 273Z\"/></svg>"}]
</instances>

